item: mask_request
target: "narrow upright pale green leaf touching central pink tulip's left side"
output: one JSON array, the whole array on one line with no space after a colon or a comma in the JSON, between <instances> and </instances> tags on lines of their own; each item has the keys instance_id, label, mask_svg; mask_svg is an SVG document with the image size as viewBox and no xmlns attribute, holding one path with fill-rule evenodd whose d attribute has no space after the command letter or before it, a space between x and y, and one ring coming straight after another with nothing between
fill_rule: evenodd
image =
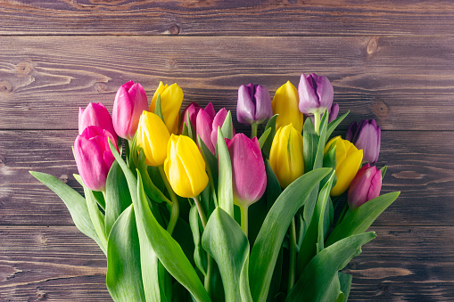
<instances>
[{"instance_id":1,"label":"narrow upright pale green leaf touching central pink tulip's left side","mask_svg":"<svg viewBox=\"0 0 454 302\"><path fill-rule=\"evenodd\" d=\"M227 119L227 118L226 118ZM234 217L234 197L232 195L232 163L224 135L218 128L218 202L219 207Z\"/></svg>"}]
</instances>

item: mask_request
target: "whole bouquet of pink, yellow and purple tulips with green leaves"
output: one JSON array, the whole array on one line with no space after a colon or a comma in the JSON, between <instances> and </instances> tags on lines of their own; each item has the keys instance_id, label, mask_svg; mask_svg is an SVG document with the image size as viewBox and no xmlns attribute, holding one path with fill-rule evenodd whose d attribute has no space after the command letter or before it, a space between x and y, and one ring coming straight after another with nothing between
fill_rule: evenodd
<instances>
[{"instance_id":1,"label":"whole bouquet of pink, yellow and purple tulips with green leaves","mask_svg":"<svg viewBox=\"0 0 454 302\"><path fill-rule=\"evenodd\" d=\"M352 276L341 270L399 192L379 196L375 120L329 139L348 114L337 117L333 97L315 74L272 100L240 86L247 136L211 103L180 115L177 84L161 83L149 105L130 81L112 116L101 103L79 111L74 176L85 197L31 174L103 250L115 301L346 301Z\"/></svg>"}]
</instances>

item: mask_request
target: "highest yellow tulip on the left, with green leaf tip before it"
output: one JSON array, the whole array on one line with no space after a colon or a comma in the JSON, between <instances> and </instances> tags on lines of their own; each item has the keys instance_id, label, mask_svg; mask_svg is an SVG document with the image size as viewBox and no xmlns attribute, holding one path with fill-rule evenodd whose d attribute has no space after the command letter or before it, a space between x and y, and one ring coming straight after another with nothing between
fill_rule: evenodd
<instances>
[{"instance_id":1,"label":"highest yellow tulip on the left, with green leaf tip before it","mask_svg":"<svg viewBox=\"0 0 454 302\"><path fill-rule=\"evenodd\" d=\"M177 86L177 83L168 86L160 82L158 89L153 94L150 112L154 112L158 94L161 94L161 111L166 127L169 129L169 133L176 135L178 132L179 109L183 102L183 90Z\"/></svg>"}]
</instances>

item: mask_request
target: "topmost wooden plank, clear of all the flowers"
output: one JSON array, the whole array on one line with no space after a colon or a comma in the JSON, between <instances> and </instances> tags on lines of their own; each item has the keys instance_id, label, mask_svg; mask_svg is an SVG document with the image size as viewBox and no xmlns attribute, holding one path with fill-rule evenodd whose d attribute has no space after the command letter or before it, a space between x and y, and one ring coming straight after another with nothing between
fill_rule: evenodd
<instances>
[{"instance_id":1,"label":"topmost wooden plank, clear of all the flowers","mask_svg":"<svg viewBox=\"0 0 454 302\"><path fill-rule=\"evenodd\" d=\"M273 22L270 26L270 22ZM449 1L4 1L1 35L452 35Z\"/></svg>"}]
</instances>

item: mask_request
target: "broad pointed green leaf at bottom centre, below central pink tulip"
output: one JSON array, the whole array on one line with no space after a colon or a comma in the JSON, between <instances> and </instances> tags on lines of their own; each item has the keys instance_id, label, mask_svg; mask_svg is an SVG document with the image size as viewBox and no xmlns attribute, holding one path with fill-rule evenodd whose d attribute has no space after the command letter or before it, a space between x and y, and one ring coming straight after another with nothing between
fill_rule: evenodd
<instances>
[{"instance_id":1,"label":"broad pointed green leaf at bottom centre, below central pink tulip","mask_svg":"<svg viewBox=\"0 0 454 302\"><path fill-rule=\"evenodd\" d=\"M219 266L226 301L251 301L249 241L241 226L222 208L211 214L202 236L202 247Z\"/></svg>"}]
</instances>

